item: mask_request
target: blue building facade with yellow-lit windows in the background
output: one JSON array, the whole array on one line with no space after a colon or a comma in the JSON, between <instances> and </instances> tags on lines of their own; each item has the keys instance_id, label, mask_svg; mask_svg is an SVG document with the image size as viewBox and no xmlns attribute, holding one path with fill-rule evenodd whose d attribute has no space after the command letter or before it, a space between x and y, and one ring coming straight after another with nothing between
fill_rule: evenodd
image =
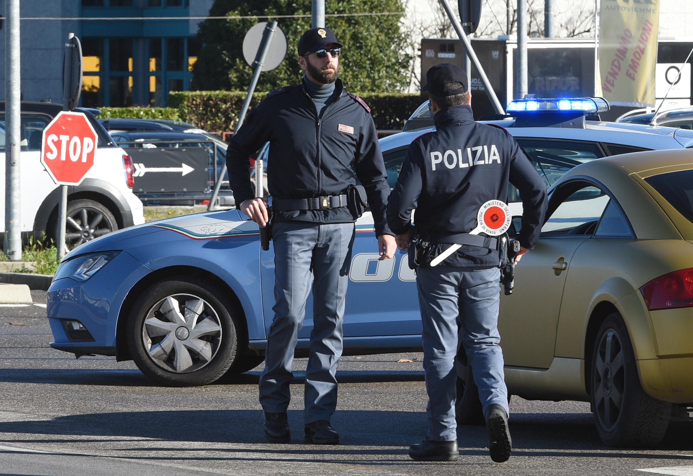
<instances>
[{"instance_id":1,"label":"blue building facade with yellow-lit windows in the background","mask_svg":"<svg viewBox=\"0 0 693 476\"><path fill-rule=\"evenodd\" d=\"M20 41L24 100L62 100L63 44L68 33L75 33L84 56L81 105L166 105L169 91L190 88L200 48L197 32L201 21L190 17L207 16L212 3L23 0ZM3 50L4 31L0 33ZM4 70L0 77L4 82ZM4 87L0 94L4 95Z\"/></svg>"}]
</instances>

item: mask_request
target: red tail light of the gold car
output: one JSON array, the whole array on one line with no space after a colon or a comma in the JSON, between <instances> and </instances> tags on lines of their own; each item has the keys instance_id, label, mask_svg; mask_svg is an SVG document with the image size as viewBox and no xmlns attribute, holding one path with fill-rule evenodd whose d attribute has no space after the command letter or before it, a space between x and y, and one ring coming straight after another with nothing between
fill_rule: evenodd
<instances>
[{"instance_id":1,"label":"red tail light of the gold car","mask_svg":"<svg viewBox=\"0 0 693 476\"><path fill-rule=\"evenodd\" d=\"M663 274L640 292L649 310L693 307L693 267Z\"/></svg>"}]
</instances>

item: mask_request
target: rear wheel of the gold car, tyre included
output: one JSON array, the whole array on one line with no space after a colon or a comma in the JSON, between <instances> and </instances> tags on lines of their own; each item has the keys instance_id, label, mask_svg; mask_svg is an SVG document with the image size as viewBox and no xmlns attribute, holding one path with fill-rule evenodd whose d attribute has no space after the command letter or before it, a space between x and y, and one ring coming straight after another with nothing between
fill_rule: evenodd
<instances>
[{"instance_id":1,"label":"rear wheel of the gold car, tyre included","mask_svg":"<svg viewBox=\"0 0 693 476\"><path fill-rule=\"evenodd\" d=\"M597 433L606 446L655 446L669 426L672 404L640 385L628 329L618 312L597 333L590 364L590 397Z\"/></svg>"}]
</instances>

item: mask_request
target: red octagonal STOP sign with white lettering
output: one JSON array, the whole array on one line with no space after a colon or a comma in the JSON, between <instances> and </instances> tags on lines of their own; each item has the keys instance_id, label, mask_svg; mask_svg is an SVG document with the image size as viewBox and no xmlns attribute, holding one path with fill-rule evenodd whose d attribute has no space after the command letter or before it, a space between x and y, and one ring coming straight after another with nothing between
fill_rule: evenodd
<instances>
[{"instance_id":1,"label":"red octagonal STOP sign with white lettering","mask_svg":"<svg viewBox=\"0 0 693 476\"><path fill-rule=\"evenodd\" d=\"M41 163L56 184L79 185L94 166L96 144L85 114L62 111L43 131Z\"/></svg>"}]
</instances>

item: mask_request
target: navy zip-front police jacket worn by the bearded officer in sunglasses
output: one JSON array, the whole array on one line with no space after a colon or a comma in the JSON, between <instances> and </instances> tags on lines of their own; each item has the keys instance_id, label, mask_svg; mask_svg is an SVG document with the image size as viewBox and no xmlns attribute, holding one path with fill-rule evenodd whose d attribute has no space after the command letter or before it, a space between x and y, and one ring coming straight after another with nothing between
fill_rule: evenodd
<instances>
[{"instance_id":1,"label":"navy zip-front police jacket worn by the bearded officer in sunglasses","mask_svg":"<svg viewBox=\"0 0 693 476\"><path fill-rule=\"evenodd\" d=\"M249 156L270 141L267 188L273 199L342 195L356 177L366 189L376 235L387 227L387 173L370 109L358 96L344 91L342 81L320 116L303 84L267 94L234 134L226 152L229 185L236 206L255 197ZM277 221L348 223L346 206L328 210L279 211Z\"/></svg>"}]
</instances>

